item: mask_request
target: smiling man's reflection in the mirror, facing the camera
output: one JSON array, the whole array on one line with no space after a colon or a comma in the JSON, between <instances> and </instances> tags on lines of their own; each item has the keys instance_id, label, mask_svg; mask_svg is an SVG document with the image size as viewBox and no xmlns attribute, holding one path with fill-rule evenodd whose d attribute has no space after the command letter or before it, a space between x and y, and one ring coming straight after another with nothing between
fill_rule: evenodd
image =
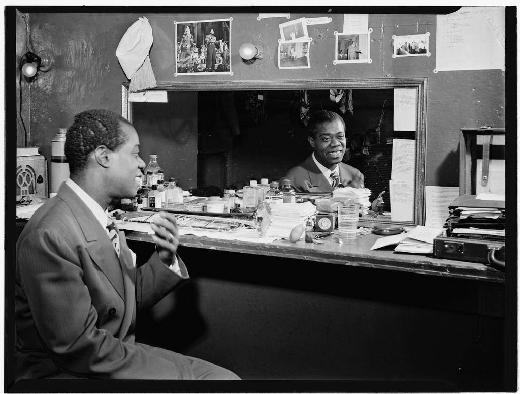
<instances>
[{"instance_id":1,"label":"smiling man's reflection in the mirror, facing the camera","mask_svg":"<svg viewBox=\"0 0 520 394\"><path fill-rule=\"evenodd\" d=\"M313 153L280 180L289 179L298 193L331 192L335 188L365 187L358 169L342 162L347 149L345 122L337 113L318 111L307 123L308 141Z\"/></svg>"}]
</instances>

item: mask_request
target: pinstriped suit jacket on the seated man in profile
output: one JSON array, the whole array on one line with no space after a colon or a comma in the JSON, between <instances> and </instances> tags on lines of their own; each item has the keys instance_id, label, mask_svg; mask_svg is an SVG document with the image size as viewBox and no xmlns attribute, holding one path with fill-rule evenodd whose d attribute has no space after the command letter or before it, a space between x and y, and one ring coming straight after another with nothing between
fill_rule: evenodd
<instances>
[{"instance_id":1,"label":"pinstriped suit jacket on the seated man in profile","mask_svg":"<svg viewBox=\"0 0 520 394\"><path fill-rule=\"evenodd\" d=\"M92 211L66 184L39 208L16 246L18 378L192 378L182 354L134 341L137 308L189 276L154 252L136 268L123 232L120 258Z\"/></svg>"}]
</instances>

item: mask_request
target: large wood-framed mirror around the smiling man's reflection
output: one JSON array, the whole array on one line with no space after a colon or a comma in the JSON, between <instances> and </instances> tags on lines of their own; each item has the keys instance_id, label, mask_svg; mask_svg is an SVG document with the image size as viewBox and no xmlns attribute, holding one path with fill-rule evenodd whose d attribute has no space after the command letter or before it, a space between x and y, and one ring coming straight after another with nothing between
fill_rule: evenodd
<instances>
[{"instance_id":1,"label":"large wood-framed mirror around the smiling man's reflection","mask_svg":"<svg viewBox=\"0 0 520 394\"><path fill-rule=\"evenodd\" d=\"M278 181L310 154L305 125L326 109L345 121L343 162L365 176L369 200L381 195L385 204L385 214L370 212L360 223L424 224L424 78L181 81L158 83L150 99L128 87L122 113L139 133L141 152L153 146L165 178L170 171L185 188Z\"/></svg>"}]
</instances>

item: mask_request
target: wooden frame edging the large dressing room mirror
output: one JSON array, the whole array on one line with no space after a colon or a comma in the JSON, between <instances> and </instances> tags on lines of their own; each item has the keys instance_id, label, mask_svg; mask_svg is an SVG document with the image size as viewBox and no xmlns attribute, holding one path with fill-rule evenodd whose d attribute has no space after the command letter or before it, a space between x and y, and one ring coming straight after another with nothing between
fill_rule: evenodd
<instances>
[{"instance_id":1,"label":"wooden frame edging the large dressing room mirror","mask_svg":"<svg viewBox=\"0 0 520 394\"><path fill-rule=\"evenodd\" d=\"M158 91L269 91L269 90L330 90L330 89L395 89L415 88L417 99L417 131L415 132L415 184L413 221L392 221L378 218L360 219L363 223L424 225L424 173L426 170L426 98L427 78L348 79L348 80L266 80L266 81L175 81L158 82ZM121 86L121 113L132 122L132 103L128 101L129 82Z\"/></svg>"}]
</instances>

